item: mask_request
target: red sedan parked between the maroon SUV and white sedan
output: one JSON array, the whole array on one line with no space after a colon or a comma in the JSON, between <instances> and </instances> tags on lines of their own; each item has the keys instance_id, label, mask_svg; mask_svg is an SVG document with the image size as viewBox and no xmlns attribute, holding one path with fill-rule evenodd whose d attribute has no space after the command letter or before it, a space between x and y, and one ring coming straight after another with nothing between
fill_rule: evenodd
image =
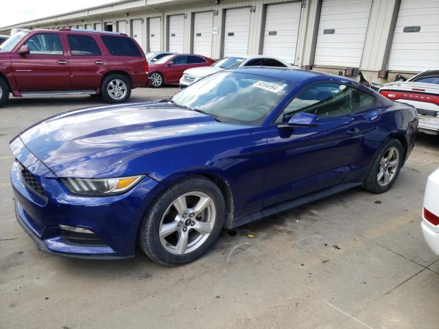
<instances>
[{"instance_id":1,"label":"red sedan parked between the maroon SUV and white sedan","mask_svg":"<svg viewBox=\"0 0 439 329\"><path fill-rule=\"evenodd\" d=\"M178 84L185 70L198 66L211 66L214 62L212 58L190 53L165 56L150 63L150 86L158 88L163 84Z\"/></svg>"}]
</instances>

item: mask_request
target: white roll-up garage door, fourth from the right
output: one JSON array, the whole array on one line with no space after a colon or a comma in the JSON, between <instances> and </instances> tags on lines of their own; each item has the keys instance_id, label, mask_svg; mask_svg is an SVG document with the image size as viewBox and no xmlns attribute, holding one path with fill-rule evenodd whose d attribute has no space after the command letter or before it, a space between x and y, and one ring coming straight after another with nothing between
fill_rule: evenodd
<instances>
[{"instance_id":1,"label":"white roll-up garage door, fourth from the right","mask_svg":"<svg viewBox=\"0 0 439 329\"><path fill-rule=\"evenodd\" d=\"M246 56L250 35L250 8L226 10L224 56Z\"/></svg>"}]
</instances>

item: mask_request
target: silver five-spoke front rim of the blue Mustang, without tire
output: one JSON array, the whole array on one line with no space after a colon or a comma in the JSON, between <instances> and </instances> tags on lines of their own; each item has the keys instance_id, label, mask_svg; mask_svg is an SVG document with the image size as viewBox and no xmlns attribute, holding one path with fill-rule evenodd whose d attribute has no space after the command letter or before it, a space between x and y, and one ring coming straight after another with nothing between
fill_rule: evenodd
<instances>
[{"instance_id":1,"label":"silver five-spoke front rim of the blue Mustang, without tire","mask_svg":"<svg viewBox=\"0 0 439 329\"><path fill-rule=\"evenodd\" d=\"M161 244L171 254L189 254L209 238L215 219L215 204L209 195L198 191L180 195L161 219Z\"/></svg>"}]
</instances>

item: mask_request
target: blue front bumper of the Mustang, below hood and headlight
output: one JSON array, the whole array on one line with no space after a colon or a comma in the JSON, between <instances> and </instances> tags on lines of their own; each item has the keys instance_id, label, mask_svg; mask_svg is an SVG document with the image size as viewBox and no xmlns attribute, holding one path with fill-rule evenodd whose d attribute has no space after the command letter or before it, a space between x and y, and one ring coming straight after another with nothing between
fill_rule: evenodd
<instances>
[{"instance_id":1,"label":"blue front bumper of the Mustang, below hood and headlight","mask_svg":"<svg viewBox=\"0 0 439 329\"><path fill-rule=\"evenodd\" d=\"M41 198L23 182L19 162L11 169L16 219L39 250L75 258L116 259L134 256L137 228L157 182L144 178L123 195L84 197L72 195L38 159L23 147L14 152L43 186ZM30 164L33 162L34 164ZM72 243L60 225L86 228L102 241L99 245Z\"/></svg>"}]
</instances>

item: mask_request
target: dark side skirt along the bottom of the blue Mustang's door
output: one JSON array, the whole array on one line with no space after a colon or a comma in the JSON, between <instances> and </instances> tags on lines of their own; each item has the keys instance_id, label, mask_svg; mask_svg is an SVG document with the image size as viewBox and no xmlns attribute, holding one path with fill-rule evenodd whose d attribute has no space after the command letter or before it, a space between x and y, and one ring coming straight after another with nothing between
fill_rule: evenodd
<instances>
[{"instance_id":1,"label":"dark side skirt along the bottom of the blue Mustang's door","mask_svg":"<svg viewBox=\"0 0 439 329\"><path fill-rule=\"evenodd\" d=\"M288 209L296 208L298 206L302 206L303 204L308 204L309 202L313 202L318 199L322 199L324 197L329 197L330 195L333 195L335 193L346 191L350 188L360 185L361 183L348 183L348 184L332 186L330 188L325 188L324 190L320 190L314 193L309 193L307 195L303 195L302 197L297 197L296 199L292 199L282 204L276 204L276 206L271 206L259 212L254 212L250 215L237 217L232 221L230 226L226 226L225 228L226 229L237 228L238 226L250 223L252 221L257 221L258 219L274 215L277 212L282 212Z\"/></svg>"}]
</instances>

